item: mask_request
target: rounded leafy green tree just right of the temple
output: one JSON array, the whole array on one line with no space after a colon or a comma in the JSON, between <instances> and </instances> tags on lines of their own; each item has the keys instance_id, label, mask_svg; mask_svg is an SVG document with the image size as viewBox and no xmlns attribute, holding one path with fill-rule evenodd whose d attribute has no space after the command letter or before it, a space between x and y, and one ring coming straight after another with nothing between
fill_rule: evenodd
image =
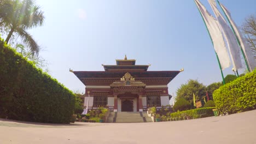
<instances>
[{"instance_id":1,"label":"rounded leafy green tree just right of the temple","mask_svg":"<svg viewBox=\"0 0 256 144\"><path fill-rule=\"evenodd\" d=\"M206 95L206 87L199 83L197 80L189 80L186 84L181 85L176 91L176 101L180 98L188 100L190 104L193 104L193 92L196 100L201 100Z\"/></svg>"}]
</instances>

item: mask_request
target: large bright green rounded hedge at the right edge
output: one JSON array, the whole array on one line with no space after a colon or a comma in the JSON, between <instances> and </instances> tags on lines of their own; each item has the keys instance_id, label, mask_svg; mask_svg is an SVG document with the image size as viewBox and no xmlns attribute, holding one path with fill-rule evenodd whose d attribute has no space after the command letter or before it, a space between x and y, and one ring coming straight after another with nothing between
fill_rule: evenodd
<instances>
[{"instance_id":1,"label":"large bright green rounded hedge at the right edge","mask_svg":"<svg viewBox=\"0 0 256 144\"><path fill-rule=\"evenodd\" d=\"M256 108L256 69L214 91L220 113L236 113Z\"/></svg>"}]
</instances>

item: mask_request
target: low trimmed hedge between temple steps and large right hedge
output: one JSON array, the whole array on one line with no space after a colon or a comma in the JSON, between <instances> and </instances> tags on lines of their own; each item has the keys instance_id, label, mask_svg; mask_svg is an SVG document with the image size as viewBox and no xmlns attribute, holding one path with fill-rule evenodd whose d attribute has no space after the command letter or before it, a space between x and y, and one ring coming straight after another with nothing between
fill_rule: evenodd
<instances>
[{"instance_id":1,"label":"low trimmed hedge between temple steps and large right hedge","mask_svg":"<svg viewBox=\"0 0 256 144\"><path fill-rule=\"evenodd\" d=\"M183 116L190 116L191 118L199 118L200 117L199 113L201 111L205 111L206 115L202 115L201 118L202 117L211 117L211 116L214 116L212 109L216 109L216 107L203 107L200 109L178 111L178 112L173 112L170 115L172 118L182 118Z\"/></svg>"}]
</instances>

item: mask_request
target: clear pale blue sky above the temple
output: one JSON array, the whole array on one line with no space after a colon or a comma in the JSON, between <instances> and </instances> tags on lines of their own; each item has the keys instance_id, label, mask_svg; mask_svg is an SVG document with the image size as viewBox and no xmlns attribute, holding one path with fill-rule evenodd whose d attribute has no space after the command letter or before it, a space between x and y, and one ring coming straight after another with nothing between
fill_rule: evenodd
<instances>
[{"instance_id":1,"label":"clear pale blue sky above the temple","mask_svg":"<svg viewBox=\"0 0 256 144\"><path fill-rule=\"evenodd\" d=\"M45 51L50 75L72 91L85 86L68 70L102 71L115 59L152 64L148 70L184 71L169 83L169 93L189 79L204 85L222 81L210 37L193 0L38 0L45 24L30 32ZM212 13L207 0L201 0ZM220 0L241 26L255 14L256 1ZM224 76L234 74L225 69ZM240 70L240 73L243 71Z\"/></svg>"}]
</instances>

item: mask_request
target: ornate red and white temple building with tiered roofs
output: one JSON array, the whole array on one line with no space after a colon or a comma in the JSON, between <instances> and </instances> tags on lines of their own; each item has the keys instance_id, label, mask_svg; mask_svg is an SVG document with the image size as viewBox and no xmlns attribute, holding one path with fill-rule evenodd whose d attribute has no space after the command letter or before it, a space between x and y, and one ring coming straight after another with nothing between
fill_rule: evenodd
<instances>
[{"instance_id":1,"label":"ornate red and white temple building with tiered roofs","mask_svg":"<svg viewBox=\"0 0 256 144\"><path fill-rule=\"evenodd\" d=\"M104 71L72 71L85 85L85 106L88 103L89 109L104 106L114 112L137 112L169 105L172 96L167 85L182 70L148 71L150 65L136 65L135 59L126 56L116 62L102 64Z\"/></svg>"}]
</instances>

